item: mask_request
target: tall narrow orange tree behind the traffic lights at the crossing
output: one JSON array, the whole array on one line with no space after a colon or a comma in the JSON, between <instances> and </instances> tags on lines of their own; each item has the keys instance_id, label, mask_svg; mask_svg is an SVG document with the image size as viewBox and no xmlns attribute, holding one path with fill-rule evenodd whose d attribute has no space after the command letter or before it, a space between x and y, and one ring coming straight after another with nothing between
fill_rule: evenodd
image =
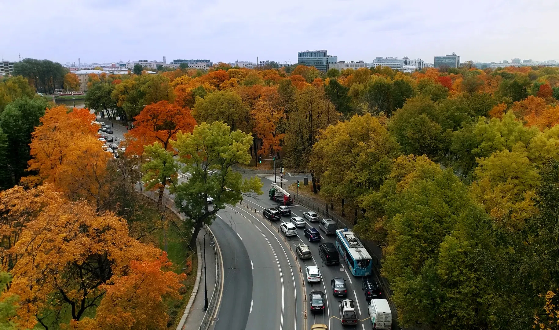
<instances>
[{"instance_id":1,"label":"tall narrow orange tree behind the traffic lights at the crossing","mask_svg":"<svg viewBox=\"0 0 559 330\"><path fill-rule=\"evenodd\" d=\"M280 143L285 134L280 133L280 126L285 120L285 111L281 105L280 94L275 87L264 87L262 97L252 110L255 119L254 131L262 140L260 155L280 152Z\"/></svg>"}]
</instances>

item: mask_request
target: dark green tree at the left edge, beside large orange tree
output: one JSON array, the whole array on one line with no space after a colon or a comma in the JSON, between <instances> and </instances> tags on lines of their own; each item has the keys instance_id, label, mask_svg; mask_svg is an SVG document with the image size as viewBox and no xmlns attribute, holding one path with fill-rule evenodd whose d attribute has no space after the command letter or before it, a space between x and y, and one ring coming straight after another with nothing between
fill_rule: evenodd
<instances>
[{"instance_id":1,"label":"dark green tree at the left edge, beside large orange tree","mask_svg":"<svg viewBox=\"0 0 559 330\"><path fill-rule=\"evenodd\" d=\"M11 188L26 176L27 162L31 159L31 133L45 115L47 102L43 98L22 97L11 102L0 114L0 128L6 135L6 163L2 180L3 189Z\"/></svg>"}]
</instances>

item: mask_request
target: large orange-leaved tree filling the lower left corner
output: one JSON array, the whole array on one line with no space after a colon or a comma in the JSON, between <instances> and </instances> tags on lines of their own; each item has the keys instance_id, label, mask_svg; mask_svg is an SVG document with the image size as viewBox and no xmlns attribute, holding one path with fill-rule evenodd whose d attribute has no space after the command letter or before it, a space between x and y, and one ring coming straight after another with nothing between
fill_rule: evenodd
<instances>
[{"instance_id":1,"label":"large orange-leaved tree filling the lower left corner","mask_svg":"<svg viewBox=\"0 0 559 330\"><path fill-rule=\"evenodd\" d=\"M103 297L111 301L116 295L127 301L101 313L103 319L110 314L130 322L126 316L145 299L152 300L148 307L153 308L141 310L146 318L166 318L156 297L177 296L184 276L166 270L167 258L158 248L131 238L126 220L110 212L98 214L86 201L69 202L53 190L46 185L0 192L2 233L11 237L9 248L2 241L0 260L2 271L13 276L1 299L19 298L12 321L21 328L37 322L46 328L48 322L58 325L66 311L80 320L100 301L103 305ZM9 230L16 227L17 232ZM153 280L153 291L138 285L141 278ZM134 287L136 294L127 293Z\"/></svg>"}]
</instances>

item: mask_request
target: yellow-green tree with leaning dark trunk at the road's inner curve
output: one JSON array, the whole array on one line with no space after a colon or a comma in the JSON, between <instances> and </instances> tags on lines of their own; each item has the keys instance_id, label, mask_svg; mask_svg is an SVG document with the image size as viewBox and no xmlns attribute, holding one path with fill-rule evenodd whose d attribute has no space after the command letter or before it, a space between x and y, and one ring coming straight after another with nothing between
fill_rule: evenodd
<instances>
[{"instance_id":1,"label":"yellow-green tree with leaning dark trunk at the road's inner curve","mask_svg":"<svg viewBox=\"0 0 559 330\"><path fill-rule=\"evenodd\" d=\"M175 204L191 220L193 228L190 246L196 244L198 232L204 223L211 224L217 211L225 205L235 205L244 194L262 194L258 177L241 177L233 171L236 164L248 164L252 144L251 134L231 131L222 121L211 125L202 122L192 133L178 133L173 147L178 150L178 161L183 163L183 173L190 173L188 181L173 186ZM207 197L214 199L208 208Z\"/></svg>"}]
</instances>

